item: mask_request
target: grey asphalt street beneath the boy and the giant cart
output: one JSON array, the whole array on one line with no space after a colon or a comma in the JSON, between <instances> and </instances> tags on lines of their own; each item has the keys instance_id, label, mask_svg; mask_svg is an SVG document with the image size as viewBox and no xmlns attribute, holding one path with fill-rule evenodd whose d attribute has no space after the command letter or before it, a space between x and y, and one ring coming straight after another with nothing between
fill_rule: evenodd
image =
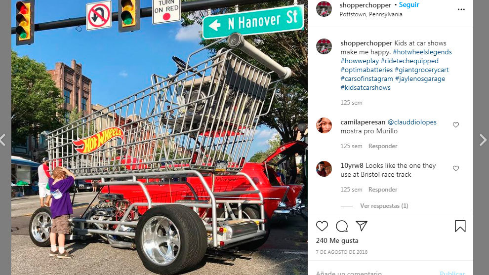
<instances>
[{"instance_id":1,"label":"grey asphalt street beneath the boy and the giant cart","mask_svg":"<svg viewBox=\"0 0 489 275\"><path fill-rule=\"evenodd\" d=\"M95 193L75 196L74 215L80 215ZM96 200L95 200L96 202ZM30 214L40 206L39 198L12 200L11 274L141 274L151 275L142 265L137 252L113 248L102 239L68 242L72 259L48 256L49 248L34 245L28 235ZM186 274L199 275L300 275L307 274L307 222L301 217L273 217L267 242L251 256L223 262L205 258Z\"/></svg>"}]
</instances>

